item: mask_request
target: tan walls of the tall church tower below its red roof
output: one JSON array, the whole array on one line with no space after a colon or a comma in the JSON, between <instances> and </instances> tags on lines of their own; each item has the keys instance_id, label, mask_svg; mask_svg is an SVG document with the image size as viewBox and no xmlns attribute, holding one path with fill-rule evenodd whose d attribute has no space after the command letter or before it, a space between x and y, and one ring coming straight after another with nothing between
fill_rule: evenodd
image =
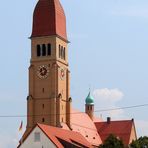
<instances>
[{"instance_id":1,"label":"tan walls of the tall church tower below its red roof","mask_svg":"<svg viewBox=\"0 0 148 148\"><path fill-rule=\"evenodd\" d=\"M50 56L37 56L37 45L51 44ZM65 59L60 57L60 47L65 49ZM48 74L40 77L41 67ZM27 129L36 123L60 126L70 124L70 72L67 42L57 36L31 38L29 67L29 96L27 98Z\"/></svg>"}]
</instances>

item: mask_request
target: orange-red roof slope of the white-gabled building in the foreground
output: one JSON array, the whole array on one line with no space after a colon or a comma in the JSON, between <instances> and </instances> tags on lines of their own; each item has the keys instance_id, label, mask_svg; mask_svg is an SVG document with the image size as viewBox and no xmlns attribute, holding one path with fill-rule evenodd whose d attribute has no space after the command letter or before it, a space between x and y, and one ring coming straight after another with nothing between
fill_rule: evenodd
<instances>
[{"instance_id":1,"label":"orange-red roof slope of the white-gabled building in the foreground","mask_svg":"<svg viewBox=\"0 0 148 148\"><path fill-rule=\"evenodd\" d=\"M38 127L47 135L47 137L59 148L63 148L59 139L62 139L68 143L76 142L84 147L91 148L91 144L79 133L70 130L65 130L57 127L52 127L43 124L37 124Z\"/></svg>"}]
</instances>

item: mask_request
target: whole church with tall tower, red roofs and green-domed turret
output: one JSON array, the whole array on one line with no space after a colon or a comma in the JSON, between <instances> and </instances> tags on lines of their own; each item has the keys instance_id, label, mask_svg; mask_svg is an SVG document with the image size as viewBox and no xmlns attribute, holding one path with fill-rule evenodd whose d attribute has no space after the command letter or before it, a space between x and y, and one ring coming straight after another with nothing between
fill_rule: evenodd
<instances>
[{"instance_id":1,"label":"whole church with tall tower, red roofs and green-domed turret","mask_svg":"<svg viewBox=\"0 0 148 148\"><path fill-rule=\"evenodd\" d=\"M98 147L109 134L125 138L126 145L136 139L133 120L117 124L94 116L90 92L85 112L72 108L66 16L59 0L38 0L30 39L27 126L19 148ZM116 124L121 135L112 128Z\"/></svg>"}]
</instances>

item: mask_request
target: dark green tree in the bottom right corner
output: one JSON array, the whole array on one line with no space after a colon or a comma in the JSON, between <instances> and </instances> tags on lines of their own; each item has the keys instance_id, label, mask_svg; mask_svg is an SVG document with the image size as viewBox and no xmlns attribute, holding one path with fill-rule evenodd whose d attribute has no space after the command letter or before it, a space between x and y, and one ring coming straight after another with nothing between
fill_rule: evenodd
<instances>
[{"instance_id":1,"label":"dark green tree in the bottom right corner","mask_svg":"<svg viewBox=\"0 0 148 148\"><path fill-rule=\"evenodd\" d=\"M140 137L130 144L130 148L148 148L148 137Z\"/></svg>"}]
</instances>

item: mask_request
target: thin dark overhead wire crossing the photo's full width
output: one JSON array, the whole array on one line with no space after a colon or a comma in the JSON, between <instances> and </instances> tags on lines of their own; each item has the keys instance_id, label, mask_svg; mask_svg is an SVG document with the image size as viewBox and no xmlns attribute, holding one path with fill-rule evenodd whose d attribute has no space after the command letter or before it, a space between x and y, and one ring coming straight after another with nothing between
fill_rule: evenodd
<instances>
[{"instance_id":1,"label":"thin dark overhead wire crossing the photo's full width","mask_svg":"<svg viewBox=\"0 0 148 148\"><path fill-rule=\"evenodd\" d=\"M148 106L148 103L140 104L140 105L133 105L133 106L118 107L118 108L101 109L101 110L95 110L94 112L109 112L109 111L126 110L126 109L133 109L133 108L140 108L140 107L147 107L147 106ZM85 112L73 112L70 114L82 114L82 113L85 113ZM25 118L25 117L32 117L32 116L54 116L54 115L65 115L65 114L0 115L0 118Z\"/></svg>"}]
</instances>

